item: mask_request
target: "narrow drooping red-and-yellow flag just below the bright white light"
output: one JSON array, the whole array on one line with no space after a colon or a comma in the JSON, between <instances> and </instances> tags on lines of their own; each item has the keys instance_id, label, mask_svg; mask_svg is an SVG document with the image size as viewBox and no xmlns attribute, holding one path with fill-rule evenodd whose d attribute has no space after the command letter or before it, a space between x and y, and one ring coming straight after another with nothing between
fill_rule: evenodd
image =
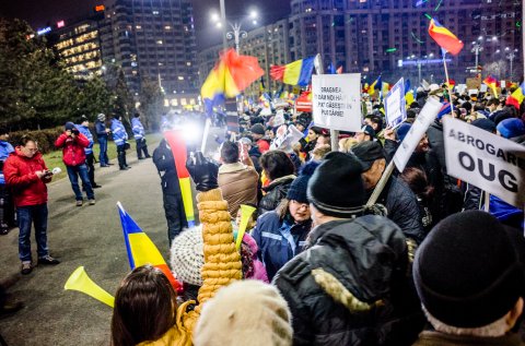
<instances>
[{"instance_id":1,"label":"narrow drooping red-and-yellow flag just below the bright white light","mask_svg":"<svg viewBox=\"0 0 525 346\"><path fill-rule=\"evenodd\" d=\"M184 213L188 227L195 226L194 198L191 194L191 181L189 178L186 160L188 158L186 143L179 130L170 130L164 132L164 138L172 148L175 168L177 169L178 182L180 183L180 193L183 194Z\"/></svg>"}]
</instances>

